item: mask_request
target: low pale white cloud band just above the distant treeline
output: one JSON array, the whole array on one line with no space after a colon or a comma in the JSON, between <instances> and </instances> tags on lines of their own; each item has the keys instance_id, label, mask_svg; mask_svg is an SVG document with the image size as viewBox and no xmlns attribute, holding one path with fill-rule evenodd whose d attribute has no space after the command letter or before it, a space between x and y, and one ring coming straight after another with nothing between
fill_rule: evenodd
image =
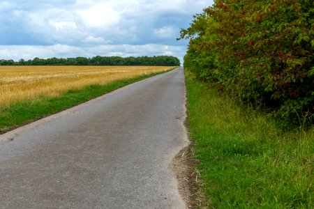
<instances>
[{"instance_id":1,"label":"low pale white cloud band just above the distant treeline","mask_svg":"<svg viewBox=\"0 0 314 209\"><path fill-rule=\"evenodd\" d=\"M76 56L158 56L180 55L185 53L186 47L169 45L96 45L87 47L73 47L69 45L31 46L31 45L0 45L1 59L33 59L35 57L50 58ZM22 52L22 53L21 53Z\"/></svg>"}]
</instances>

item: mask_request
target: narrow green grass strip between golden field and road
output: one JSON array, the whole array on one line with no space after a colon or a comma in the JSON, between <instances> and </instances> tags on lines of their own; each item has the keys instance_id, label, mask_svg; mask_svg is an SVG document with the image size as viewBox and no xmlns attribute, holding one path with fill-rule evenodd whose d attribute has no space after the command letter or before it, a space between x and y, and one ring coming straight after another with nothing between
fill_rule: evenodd
<instances>
[{"instance_id":1,"label":"narrow green grass strip between golden field and road","mask_svg":"<svg viewBox=\"0 0 314 209\"><path fill-rule=\"evenodd\" d=\"M173 70L172 68L171 70ZM167 70L165 72L169 72ZM74 107L100 95L114 91L128 84L153 77L163 72L156 72L140 77L124 79L105 86L92 85L78 90L68 90L57 98L38 98L33 101L17 102L0 111L0 133L12 130L15 127L36 121L64 109Z\"/></svg>"}]
</instances>

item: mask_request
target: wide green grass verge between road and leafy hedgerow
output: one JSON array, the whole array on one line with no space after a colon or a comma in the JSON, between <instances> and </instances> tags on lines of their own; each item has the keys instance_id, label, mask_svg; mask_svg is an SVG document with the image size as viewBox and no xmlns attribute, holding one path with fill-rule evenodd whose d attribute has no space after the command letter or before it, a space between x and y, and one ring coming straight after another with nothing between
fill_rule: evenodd
<instances>
[{"instance_id":1,"label":"wide green grass verge between road and leafy hedgerow","mask_svg":"<svg viewBox=\"0 0 314 209\"><path fill-rule=\"evenodd\" d=\"M209 208L314 208L314 131L278 130L186 72L188 127Z\"/></svg>"}]
</instances>

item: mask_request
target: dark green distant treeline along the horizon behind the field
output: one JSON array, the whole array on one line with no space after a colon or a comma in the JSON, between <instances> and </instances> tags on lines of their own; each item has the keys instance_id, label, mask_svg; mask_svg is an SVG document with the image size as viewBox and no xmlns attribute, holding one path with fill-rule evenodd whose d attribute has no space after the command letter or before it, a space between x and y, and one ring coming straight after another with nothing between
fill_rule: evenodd
<instances>
[{"instance_id":1,"label":"dark green distant treeline along the horizon behind the field","mask_svg":"<svg viewBox=\"0 0 314 209\"><path fill-rule=\"evenodd\" d=\"M126 58L120 56L94 56L86 58L78 56L75 58L49 58L40 59L38 57L33 60L20 59L0 60L0 65L153 65L153 66L179 66L180 61L174 56L129 56Z\"/></svg>"}]
</instances>

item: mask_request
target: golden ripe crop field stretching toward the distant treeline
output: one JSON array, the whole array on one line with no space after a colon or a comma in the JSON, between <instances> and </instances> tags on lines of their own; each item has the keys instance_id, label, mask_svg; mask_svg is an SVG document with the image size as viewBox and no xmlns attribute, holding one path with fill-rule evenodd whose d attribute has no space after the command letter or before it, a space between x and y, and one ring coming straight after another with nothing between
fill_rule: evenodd
<instances>
[{"instance_id":1,"label":"golden ripe crop field stretching toward the distant treeline","mask_svg":"<svg viewBox=\"0 0 314 209\"><path fill-rule=\"evenodd\" d=\"M0 66L0 111L13 102L168 70L156 66Z\"/></svg>"}]
</instances>

